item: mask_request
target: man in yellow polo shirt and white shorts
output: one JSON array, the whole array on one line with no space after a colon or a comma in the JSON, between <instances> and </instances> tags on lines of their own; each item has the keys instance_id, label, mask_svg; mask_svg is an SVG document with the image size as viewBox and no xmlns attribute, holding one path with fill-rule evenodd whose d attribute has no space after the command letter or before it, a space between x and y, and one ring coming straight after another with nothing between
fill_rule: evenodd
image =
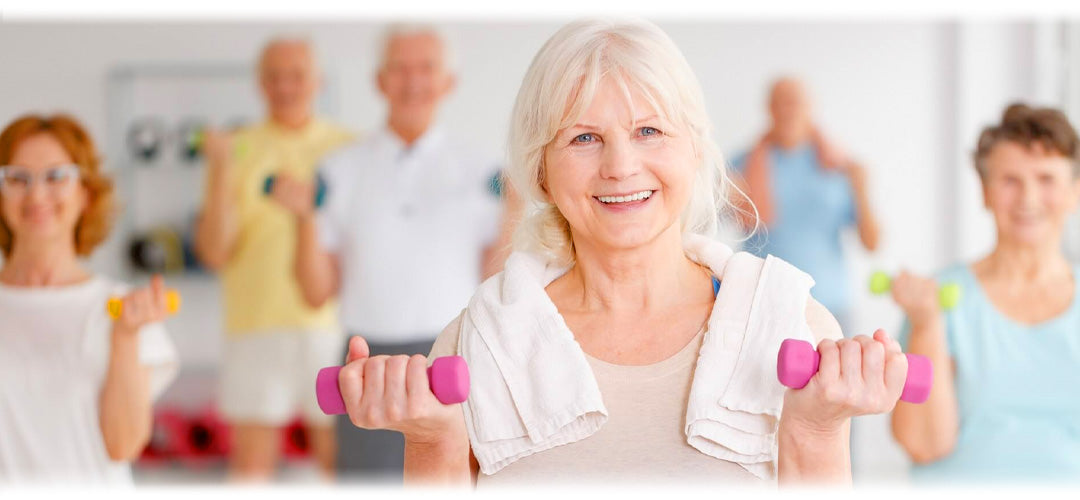
<instances>
[{"instance_id":1,"label":"man in yellow polo shirt and white shorts","mask_svg":"<svg viewBox=\"0 0 1080 500\"><path fill-rule=\"evenodd\" d=\"M352 139L316 118L321 73L306 40L275 39L262 49L261 123L206 138L206 192L195 252L219 271L225 350L219 407L232 427L229 476L273 476L282 428L302 415L325 476L334 474L334 420L313 393L319 368L340 364L343 334L333 301L308 305L293 276L296 220L264 193L270 175L311 179L322 157ZM278 189L273 197L281 195ZM309 198L309 203L312 199Z\"/></svg>"}]
</instances>

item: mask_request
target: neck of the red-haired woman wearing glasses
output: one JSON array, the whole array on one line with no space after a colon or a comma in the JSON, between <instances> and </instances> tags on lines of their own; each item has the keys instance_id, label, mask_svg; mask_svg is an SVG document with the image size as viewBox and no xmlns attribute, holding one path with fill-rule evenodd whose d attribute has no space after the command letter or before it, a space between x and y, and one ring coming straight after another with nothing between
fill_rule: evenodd
<instances>
[{"instance_id":1,"label":"neck of the red-haired woman wearing glasses","mask_svg":"<svg viewBox=\"0 0 1080 500\"><path fill-rule=\"evenodd\" d=\"M90 274L79 266L71 244L19 244L0 268L0 282L13 286L63 286L85 281Z\"/></svg>"}]
</instances>

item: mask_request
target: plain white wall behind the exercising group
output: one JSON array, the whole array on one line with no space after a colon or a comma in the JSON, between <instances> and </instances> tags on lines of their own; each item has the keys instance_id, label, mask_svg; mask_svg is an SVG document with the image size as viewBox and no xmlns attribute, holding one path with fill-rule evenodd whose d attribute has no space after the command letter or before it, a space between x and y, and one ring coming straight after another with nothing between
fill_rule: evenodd
<instances>
[{"instance_id":1,"label":"plain white wall behind the exercising group","mask_svg":"<svg viewBox=\"0 0 1080 500\"><path fill-rule=\"evenodd\" d=\"M443 121L474 146L499 154L521 78L556 27L447 25L460 81ZM1034 32L1027 25L708 22L662 27L698 73L726 152L746 147L765 126L769 80L794 73L808 82L824 132L869 168L883 239L874 256L860 251L854 238L847 239L852 285L860 290L855 333L869 334L878 326L894 330L900 324L895 307L865 293L872 269L904 266L931 272L984 246L987 228L976 224L978 206L972 206L971 179L963 177L971 168L964 154L974 140L974 123L996 118L1003 97L1035 92L1032 78L1018 76L1015 66L1037 45L1025 43L1030 40L1026 33ZM30 110L66 110L106 144L110 68L251 62L267 37L282 31L309 33L314 40L336 82L340 121L365 131L381 123L384 108L372 84L378 31L367 23L0 24L0 67L5 68L0 122ZM998 57L1000 51L1009 56ZM116 248L98 253L95 267L119 269ZM213 325L214 299L202 300L211 302L202 307L214 313L198 324ZM181 353L187 349L188 355L206 355L205 346L218 332L198 329L174 326L174 337L189 336ZM886 431L886 419L860 424L858 472L868 478L903 477L905 459Z\"/></svg>"}]
</instances>

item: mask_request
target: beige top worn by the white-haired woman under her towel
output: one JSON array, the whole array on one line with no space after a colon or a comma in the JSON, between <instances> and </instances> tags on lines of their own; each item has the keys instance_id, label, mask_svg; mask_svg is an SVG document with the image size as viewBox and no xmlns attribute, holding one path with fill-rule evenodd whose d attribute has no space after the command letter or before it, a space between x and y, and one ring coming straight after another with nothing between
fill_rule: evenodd
<instances>
[{"instance_id":1,"label":"beige top worn by the white-haired woman under her towel","mask_svg":"<svg viewBox=\"0 0 1080 500\"><path fill-rule=\"evenodd\" d=\"M457 351L458 322L432 356ZM449 335L447 335L449 334ZM608 420L593 435L524 457L499 472L481 472L476 487L558 483L768 484L738 463L710 457L687 444L686 407L705 329L677 353L650 365L616 365L585 354Z\"/></svg>"}]
</instances>

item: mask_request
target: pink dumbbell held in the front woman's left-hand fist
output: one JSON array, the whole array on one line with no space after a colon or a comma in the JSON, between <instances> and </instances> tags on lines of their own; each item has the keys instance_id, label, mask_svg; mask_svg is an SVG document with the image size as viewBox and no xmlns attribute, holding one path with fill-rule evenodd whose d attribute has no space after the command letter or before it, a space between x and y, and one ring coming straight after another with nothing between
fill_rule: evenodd
<instances>
[{"instance_id":1,"label":"pink dumbbell held in the front woman's left-hand fist","mask_svg":"<svg viewBox=\"0 0 1080 500\"><path fill-rule=\"evenodd\" d=\"M315 377L315 397L319 408L326 415L345 415L345 400L338 388L340 366L328 366ZM435 398L444 405L461 403L469 398L469 365L461 356L435 359L428 367L428 383Z\"/></svg>"}]
</instances>

